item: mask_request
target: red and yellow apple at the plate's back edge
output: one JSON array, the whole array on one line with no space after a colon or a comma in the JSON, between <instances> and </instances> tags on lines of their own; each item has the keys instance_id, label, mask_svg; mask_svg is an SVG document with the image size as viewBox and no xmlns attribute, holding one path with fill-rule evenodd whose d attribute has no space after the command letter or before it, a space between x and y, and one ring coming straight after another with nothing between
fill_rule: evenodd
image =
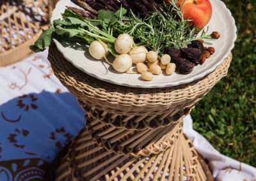
<instances>
[{"instance_id":1,"label":"red and yellow apple at the plate's back edge","mask_svg":"<svg viewBox=\"0 0 256 181\"><path fill-rule=\"evenodd\" d=\"M172 0L164 0L170 2ZM212 5L209 0L175 0L182 6L184 19L193 20L193 25L198 29L203 29L211 20Z\"/></svg>"}]
</instances>

